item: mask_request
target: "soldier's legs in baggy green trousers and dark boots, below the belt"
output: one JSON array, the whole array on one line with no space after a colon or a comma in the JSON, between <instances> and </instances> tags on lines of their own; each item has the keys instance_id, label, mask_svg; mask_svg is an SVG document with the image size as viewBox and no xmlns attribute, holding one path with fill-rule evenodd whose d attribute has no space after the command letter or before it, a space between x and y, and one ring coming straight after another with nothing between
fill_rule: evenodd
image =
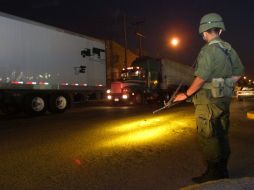
<instances>
[{"instance_id":1,"label":"soldier's legs in baggy green trousers and dark boots, below the belt","mask_svg":"<svg viewBox=\"0 0 254 190\"><path fill-rule=\"evenodd\" d=\"M196 106L198 140L207 162L207 170L202 176L193 178L194 182L202 183L225 177L221 170L222 144L224 142L221 114L222 110L216 105Z\"/></svg>"}]
</instances>

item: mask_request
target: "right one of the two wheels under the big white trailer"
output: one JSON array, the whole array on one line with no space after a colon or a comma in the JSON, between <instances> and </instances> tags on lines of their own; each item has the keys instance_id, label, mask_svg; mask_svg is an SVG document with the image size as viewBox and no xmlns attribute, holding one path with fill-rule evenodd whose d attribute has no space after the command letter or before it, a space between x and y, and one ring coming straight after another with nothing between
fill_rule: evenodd
<instances>
[{"instance_id":1,"label":"right one of the two wheels under the big white trailer","mask_svg":"<svg viewBox=\"0 0 254 190\"><path fill-rule=\"evenodd\" d=\"M63 113L68 108L69 98L63 94L52 95L49 98L49 111Z\"/></svg>"}]
</instances>

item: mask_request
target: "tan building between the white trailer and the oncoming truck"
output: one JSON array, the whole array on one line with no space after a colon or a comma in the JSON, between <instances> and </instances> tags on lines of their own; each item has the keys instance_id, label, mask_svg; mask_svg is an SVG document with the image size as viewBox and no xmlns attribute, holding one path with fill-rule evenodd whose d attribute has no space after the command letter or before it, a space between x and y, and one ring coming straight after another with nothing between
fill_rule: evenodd
<instances>
[{"instance_id":1,"label":"tan building between the white trailer and the oncoming truck","mask_svg":"<svg viewBox=\"0 0 254 190\"><path fill-rule=\"evenodd\" d=\"M127 49L127 67L138 57L137 54ZM106 41L106 64L107 64L107 84L120 78L121 70L125 67L125 49L119 43Z\"/></svg>"}]
</instances>

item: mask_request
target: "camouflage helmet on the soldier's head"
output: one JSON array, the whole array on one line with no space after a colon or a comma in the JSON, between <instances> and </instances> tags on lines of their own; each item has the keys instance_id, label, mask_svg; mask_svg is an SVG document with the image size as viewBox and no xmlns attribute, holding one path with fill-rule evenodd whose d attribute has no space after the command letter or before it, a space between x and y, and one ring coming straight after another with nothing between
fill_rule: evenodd
<instances>
[{"instance_id":1,"label":"camouflage helmet on the soldier's head","mask_svg":"<svg viewBox=\"0 0 254 190\"><path fill-rule=\"evenodd\" d=\"M221 28L223 31L226 30L222 17L217 13L209 13L201 18L199 33L202 34L212 28Z\"/></svg>"}]
</instances>

